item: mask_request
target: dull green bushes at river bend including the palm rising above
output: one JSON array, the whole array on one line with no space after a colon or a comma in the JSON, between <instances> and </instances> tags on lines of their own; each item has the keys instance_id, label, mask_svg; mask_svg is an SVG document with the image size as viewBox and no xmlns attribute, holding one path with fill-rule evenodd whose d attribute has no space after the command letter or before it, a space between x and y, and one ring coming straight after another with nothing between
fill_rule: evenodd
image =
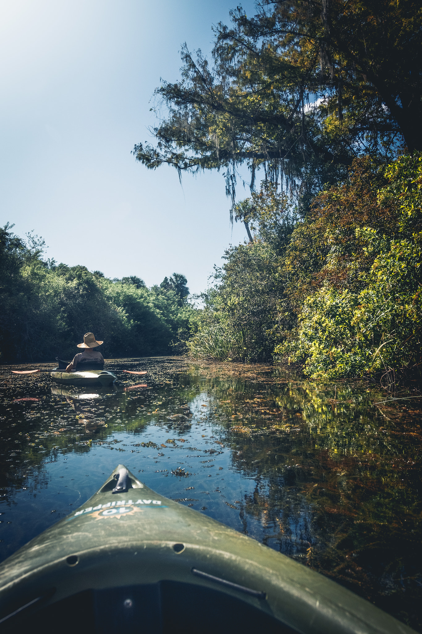
<instances>
[{"instance_id":1,"label":"dull green bushes at river bend including the palm rising above","mask_svg":"<svg viewBox=\"0 0 422 634\"><path fill-rule=\"evenodd\" d=\"M292 328L284 295L283 254L294 229L285 194L271 183L235 209L254 240L230 247L215 268L214 286L202 294L204 309L188 342L195 358L271 361L275 346Z\"/></svg>"}]
</instances>

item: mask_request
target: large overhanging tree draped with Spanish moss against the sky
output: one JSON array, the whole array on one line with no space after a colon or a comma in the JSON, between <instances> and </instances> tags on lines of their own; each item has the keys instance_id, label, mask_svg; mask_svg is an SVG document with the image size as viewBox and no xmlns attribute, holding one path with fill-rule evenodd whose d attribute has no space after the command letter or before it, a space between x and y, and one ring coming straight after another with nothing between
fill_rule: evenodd
<instances>
[{"instance_id":1,"label":"large overhanging tree draped with Spanish moss against the sky","mask_svg":"<svg viewBox=\"0 0 422 634\"><path fill-rule=\"evenodd\" d=\"M357 155L394 157L404 139L422 150L422 10L414 0L263 0L214 29L213 64L182 49L182 78L156 89L156 145L135 145L149 169L236 167L283 174L301 207L345 176Z\"/></svg>"}]
</instances>

